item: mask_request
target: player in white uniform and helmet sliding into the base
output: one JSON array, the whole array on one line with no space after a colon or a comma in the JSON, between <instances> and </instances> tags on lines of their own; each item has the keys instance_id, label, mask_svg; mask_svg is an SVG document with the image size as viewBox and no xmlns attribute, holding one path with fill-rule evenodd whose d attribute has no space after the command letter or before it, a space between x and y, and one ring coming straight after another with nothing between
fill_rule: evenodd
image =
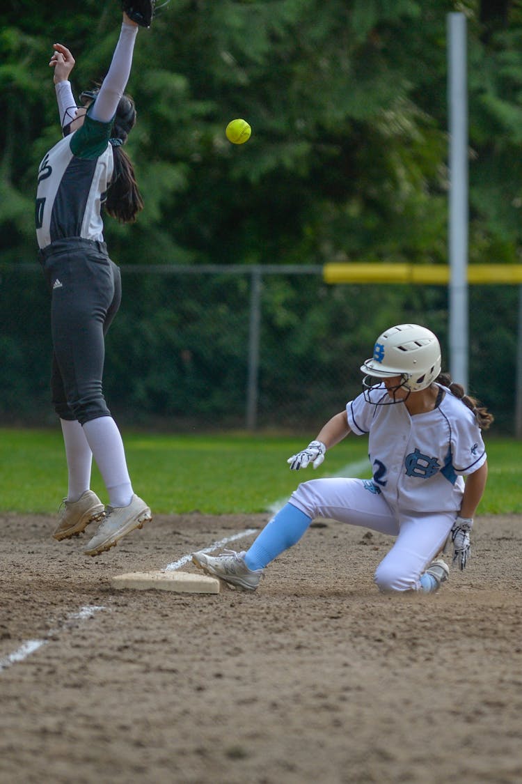
<instances>
[{"instance_id":1,"label":"player in white uniform and helmet sliding into the base","mask_svg":"<svg viewBox=\"0 0 522 784\"><path fill-rule=\"evenodd\" d=\"M473 514L488 475L481 429L493 417L441 374L439 342L423 326L387 329L361 370L362 394L288 463L292 470L309 463L317 468L326 450L349 433L368 434L373 478L304 482L247 552L194 553L204 572L255 590L265 566L297 543L315 517L396 537L374 576L383 591L437 590L449 568L434 559L448 535L453 561L466 566Z\"/></svg>"}]
</instances>

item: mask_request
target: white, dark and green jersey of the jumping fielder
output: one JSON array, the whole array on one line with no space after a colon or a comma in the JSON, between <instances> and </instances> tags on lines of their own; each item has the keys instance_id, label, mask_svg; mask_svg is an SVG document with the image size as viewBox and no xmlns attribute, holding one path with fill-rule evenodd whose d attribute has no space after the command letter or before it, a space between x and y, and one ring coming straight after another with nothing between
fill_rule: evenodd
<instances>
[{"instance_id":1,"label":"white, dark and green jersey of the jumping fielder","mask_svg":"<svg viewBox=\"0 0 522 784\"><path fill-rule=\"evenodd\" d=\"M36 237L38 247L81 237L103 241L101 209L113 176L111 122L85 116L85 122L61 139L38 167Z\"/></svg>"}]
</instances>

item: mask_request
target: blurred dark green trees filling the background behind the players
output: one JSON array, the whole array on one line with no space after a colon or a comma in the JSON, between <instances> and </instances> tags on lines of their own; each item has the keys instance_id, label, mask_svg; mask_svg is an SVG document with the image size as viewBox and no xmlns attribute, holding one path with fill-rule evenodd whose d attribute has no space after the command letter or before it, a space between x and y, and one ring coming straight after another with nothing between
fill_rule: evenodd
<instances>
[{"instance_id":1,"label":"blurred dark green trees filling the background behind the players","mask_svg":"<svg viewBox=\"0 0 522 784\"><path fill-rule=\"evenodd\" d=\"M171 0L140 30L130 154L146 203L106 218L124 303L107 340L116 416L241 426L252 265L447 263L447 14L466 14L470 263L519 263L522 5L444 0ZM38 268L38 163L59 139L52 43L74 94L103 78L117 2L8 0L0 11L0 416L52 421L49 294ZM251 140L225 126L246 118ZM244 275L196 274L239 264ZM151 267L137 274L131 265ZM172 274L152 274L153 267ZM175 267L194 274L175 274ZM401 321L434 329L441 287L262 278L259 423L315 427L360 390L358 366ZM513 426L516 287L470 289L470 390ZM43 417L43 419L42 419ZM310 424L312 423L312 424Z\"/></svg>"}]
</instances>

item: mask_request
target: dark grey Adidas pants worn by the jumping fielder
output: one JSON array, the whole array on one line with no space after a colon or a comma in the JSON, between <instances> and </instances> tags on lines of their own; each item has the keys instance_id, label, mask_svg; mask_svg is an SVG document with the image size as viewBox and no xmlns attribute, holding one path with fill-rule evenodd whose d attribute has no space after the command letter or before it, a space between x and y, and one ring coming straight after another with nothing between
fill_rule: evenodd
<instances>
[{"instance_id":1,"label":"dark grey Adidas pants worn by the jumping fielder","mask_svg":"<svg viewBox=\"0 0 522 784\"><path fill-rule=\"evenodd\" d=\"M105 335L121 303L120 270L104 242L57 240L38 254L51 291L52 403L81 424L110 416L103 397Z\"/></svg>"}]
</instances>

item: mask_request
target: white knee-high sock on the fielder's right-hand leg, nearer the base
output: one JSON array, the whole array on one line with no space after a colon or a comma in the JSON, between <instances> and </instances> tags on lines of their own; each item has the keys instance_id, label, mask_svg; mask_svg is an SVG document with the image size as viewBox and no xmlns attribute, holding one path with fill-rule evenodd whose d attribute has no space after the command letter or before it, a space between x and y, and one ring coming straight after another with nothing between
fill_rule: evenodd
<instances>
[{"instance_id":1,"label":"white knee-high sock on the fielder's right-hand leg, nearer the base","mask_svg":"<svg viewBox=\"0 0 522 784\"><path fill-rule=\"evenodd\" d=\"M110 506L128 506L132 499L125 450L112 416L99 416L83 426L88 445L109 493Z\"/></svg>"}]
</instances>

